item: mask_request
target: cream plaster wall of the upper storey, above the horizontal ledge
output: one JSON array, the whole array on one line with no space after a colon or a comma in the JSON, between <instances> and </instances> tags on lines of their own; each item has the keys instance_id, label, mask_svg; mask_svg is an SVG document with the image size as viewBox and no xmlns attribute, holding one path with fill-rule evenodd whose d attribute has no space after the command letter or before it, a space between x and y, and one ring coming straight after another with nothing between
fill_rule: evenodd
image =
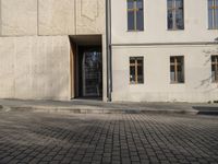
<instances>
[{"instance_id":1,"label":"cream plaster wall of the upper storey, above the horizontal ledge","mask_svg":"<svg viewBox=\"0 0 218 164\"><path fill-rule=\"evenodd\" d=\"M167 30L167 0L144 0L144 32L128 32L126 0L111 0L112 44L214 42L207 0L184 0L184 31Z\"/></svg>"}]
</instances>

